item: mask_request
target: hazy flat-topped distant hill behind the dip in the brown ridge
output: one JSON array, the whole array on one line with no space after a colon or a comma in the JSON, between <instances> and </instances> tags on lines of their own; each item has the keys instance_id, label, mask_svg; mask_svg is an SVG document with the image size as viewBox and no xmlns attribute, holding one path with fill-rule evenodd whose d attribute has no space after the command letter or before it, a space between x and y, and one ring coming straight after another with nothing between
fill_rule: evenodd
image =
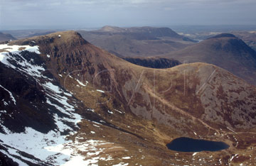
<instances>
[{"instance_id":1,"label":"hazy flat-topped distant hill behind the dip in the brown ridge","mask_svg":"<svg viewBox=\"0 0 256 166\"><path fill-rule=\"evenodd\" d=\"M82 38L115 55L148 57L181 50L194 44L194 40L170 28L119 28L105 26L97 31L78 31Z\"/></svg>"}]
</instances>

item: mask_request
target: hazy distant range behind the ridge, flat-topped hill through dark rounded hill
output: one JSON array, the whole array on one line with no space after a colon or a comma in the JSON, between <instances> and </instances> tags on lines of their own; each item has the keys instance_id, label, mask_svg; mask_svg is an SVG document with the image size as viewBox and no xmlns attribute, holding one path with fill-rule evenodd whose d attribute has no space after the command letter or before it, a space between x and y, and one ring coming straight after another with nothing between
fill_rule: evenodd
<instances>
[{"instance_id":1,"label":"hazy distant range behind the ridge, flat-topped hill through dark rounded hill","mask_svg":"<svg viewBox=\"0 0 256 166\"><path fill-rule=\"evenodd\" d=\"M129 57L147 57L147 60L148 57L166 57L181 63L206 62L222 67L250 84L256 84L255 50L230 33L193 43L193 40L178 35L170 28L105 26L97 31L79 32L90 43L119 57L127 57L129 62L135 62Z\"/></svg>"}]
</instances>

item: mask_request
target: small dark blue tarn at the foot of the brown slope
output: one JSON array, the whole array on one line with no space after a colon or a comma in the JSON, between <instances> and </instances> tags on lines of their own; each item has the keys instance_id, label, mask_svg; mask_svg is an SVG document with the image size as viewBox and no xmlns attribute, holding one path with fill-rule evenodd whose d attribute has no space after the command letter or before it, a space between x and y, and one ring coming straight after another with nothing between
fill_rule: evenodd
<instances>
[{"instance_id":1,"label":"small dark blue tarn at the foot of the brown slope","mask_svg":"<svg viewBox=\"0 0 256 166\"><path fill-rule=\"evenodd\" d=\"M201 152L201 151L218 151L228 149L229 145L223 142L211 140L196 140L193 138L176 138L167 144L167 148L178 152Z\"/></svg>"}]
</instances>

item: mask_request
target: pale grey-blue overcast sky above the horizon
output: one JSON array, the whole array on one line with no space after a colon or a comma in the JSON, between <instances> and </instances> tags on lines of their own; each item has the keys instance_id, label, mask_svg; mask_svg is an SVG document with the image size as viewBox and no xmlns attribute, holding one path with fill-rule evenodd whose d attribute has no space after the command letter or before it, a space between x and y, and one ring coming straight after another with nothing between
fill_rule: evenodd
<instances>
[{"instance_id":1,"label":"pale grey-blue overcast sky above the horizon","mask_svg":"<svg viewBox=\"0 0 256 166\"><path fill-rule=\"evenodd\" d=\"M256 0L0 0L0 30L256 25Z\"/></svg>"}]
</instances>

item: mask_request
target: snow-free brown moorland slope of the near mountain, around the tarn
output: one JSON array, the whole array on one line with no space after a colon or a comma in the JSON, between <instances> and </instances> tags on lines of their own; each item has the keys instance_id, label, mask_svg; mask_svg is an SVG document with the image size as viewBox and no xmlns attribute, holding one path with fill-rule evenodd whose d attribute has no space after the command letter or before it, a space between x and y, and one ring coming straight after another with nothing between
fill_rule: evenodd
<instances>
[{"instance_id":1,"label":"snow-free brown moorland slope of the near mountain, around the tarn","mask_svg":"<svg viewBox=\"0 0 256 166\"><path fill-rule=\"evenodd\" d=\"M80 123L76 134L84 135L80 141L94 138L114 143L104 147L114 160L100 165L118 164L124 155L131 156L125 160L131 165L254 163L256 89L227 70L202 62L162 70L137 66L87 43L73 31L9 44L38 45L39 56L60 86L117 126ZM80 114L85 111L80 109ZM223 140L230 148L196 156L168 150L166 143L180 136Z\"/></svg>"}]
</instances>

